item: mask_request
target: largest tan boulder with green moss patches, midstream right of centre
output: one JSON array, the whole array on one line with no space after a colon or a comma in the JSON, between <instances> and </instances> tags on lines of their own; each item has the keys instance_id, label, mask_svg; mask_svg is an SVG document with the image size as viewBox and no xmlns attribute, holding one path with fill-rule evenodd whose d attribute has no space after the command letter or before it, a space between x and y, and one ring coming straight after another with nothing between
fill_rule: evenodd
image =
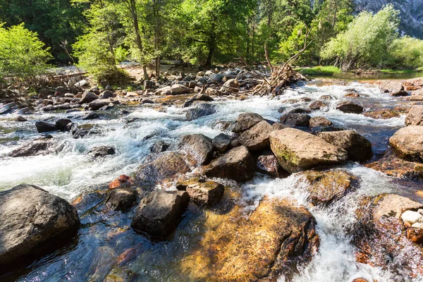
<instances>
[{"instance_id":1,"label":"largest tan boulder with green moss patches, midstream right of centre","mask_svg":"<svg viewBox=\"0 0 423 282\"><path fill-rule=\"evenodd\" d=\"M272 132L270 147L282 168L290 173L321 165L341 164L348 159L348 152L344 149L294 128Z\"/></svg>"}]
</instances>

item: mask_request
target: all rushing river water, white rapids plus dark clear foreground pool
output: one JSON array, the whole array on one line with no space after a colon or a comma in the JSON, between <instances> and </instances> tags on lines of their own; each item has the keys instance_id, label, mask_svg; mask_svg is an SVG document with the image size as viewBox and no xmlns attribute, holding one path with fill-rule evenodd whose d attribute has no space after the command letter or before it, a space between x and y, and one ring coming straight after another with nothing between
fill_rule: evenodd
<instances>
[{"instance_id":1,"label":"all rushing river water, white rapids plus dark clear foreground pool","mask_svg":"<svg viewBox=\"0 0 423 282\"><path fill-rule=\"evenodd\" d=\"M175 144L178 137L191 133L203 133L214 137L221 133L218 121L234 121L243 112L255 112L276 121L282 112L288 112L307 103L292 102L291 99L309 97L319 99L330 94L333 99L326 101L328 109L313 112L311 116L325 116L335 126L355 129L372 142L375 157L388 148L388 138L402 127L404 116L387 120L375 120L363 115L344 114L335 109L344 95L354 88L362 94L355 102L367 109L393 107L399 99L381 93L372 85L352 82L348 85L317 86L305 84L275 99L252 97L245 101L218 99L217 112L195 121L185 121L185 109L168 106L127 106L128 116L122 117L114 109L104 114L104 118L82 121L83 113L33 114L24 123L13 122L14 116L0 117L0 190L7 190L19 183L31 183L73 200L82 193L98 190L121 174L131 175L135 168L149 154L149 147L157 140ZM64 149L59 154L47 156L10 158L8 152L39 136L35 121L56 121L58 118L71 118L75 123L90 123L102 130L100 135L75 140L69 133L52 133L61 140ZM134 121L128 123L129 119ZM144 140L145 137L154 137ZM116 155L93 161L87 152L94 146L112 145ZM305 183L298 174L284 179L271 179L257 174L253 180L242 185L242 199L255 207L264 196L283 197L304 204L317 219L317 233L321 239L319 253L307 266L298 269L294 281L352 281L353 278L367 278L377 281L398 281L398 277L377 267L355 261L355 249L348 238L348 227L355 221L354 211L357 199L363 195L378 195L383 192L412 192L411 183L398 183L383 173L365 168L359 164L344 166L359 179L358 187L331 206L312 207L307 202ZM82 227L74 242L51 255L37 260L27 269L8 276L8 280L18 281L186 281L180 271L180 262L201 240L204 234L202 222L207 213L190 205L176 233L166 243L151 243L142 235L137 235L130 226L131 214L111 212L98 204L93 195L90 207L80 210ZM97 201L97 202L96 202ZM94 204L92 204L94 203ZM97 203L97 204L96 204ZM133 248L135 259L130 262L118 261L118 256L128 248ZM121 277L119 280L116 277ZM114 280L116 278L116 280ZM284 277L280 281L285 281Z\"/></svg>"}]
</instances>

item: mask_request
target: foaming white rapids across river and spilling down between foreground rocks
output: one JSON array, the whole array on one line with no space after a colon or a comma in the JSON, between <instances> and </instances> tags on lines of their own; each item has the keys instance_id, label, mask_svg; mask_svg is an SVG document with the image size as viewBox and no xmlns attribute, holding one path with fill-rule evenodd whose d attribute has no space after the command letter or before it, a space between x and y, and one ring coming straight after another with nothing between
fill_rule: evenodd
<instances>
[{"instance_id":1,"label":"foaming white rapids across river and spilling down between foreground rocks","mask_svg":"<svg viewBox=\"0 0 423 282\"><path fill-rule=\"evenodd\" d=\"M185 109L168 106L164 111L157 111L154 105L125 107L130 114L121 117L116 112L110 119L82 121L79 118L85 113L69 114L34 114L28 116L27 122L15 123L15 116L0 116L0 132L2 138L18 141L8 141L0 145L0 190L7 190L19 183L39 185L55 195L72 200L82 192L95 190L99 185L111 182L121 174L130 175L142 160L149 154L149 147L158 141L176 143L178 137L192 133L202 133L214 137L221 133L217 121L234 121L239 114L255 112L269 120L277 121L281 116L278 112L283 107L283 113L307 103L286 104L283 101L309 97L319 99L322 95L331 95L333 99L325 101L329 109L315 111L311 116L325 116L337 127L356 129L367 137L374 145L375 152L383 152L388 146L388 137L404 124L404 116L376 120L358 114L344 114L335 109L340 100L345 100L346 90L354 88L362 95L355 101L378 107L393 106L396 98L383 94L371 85L357 82L348 85L302 85L295 90L287 90L286 94L275 99L253 97L245 101L216 99L216 114L205 116L195 121L185 121ZM117 111L117 110L114 110ZM35 121L56 121L58 118L71 117L75 123L90 123L102 130L101 135L90 135L82 139L73 139L70 133L51 133L66 146L59 154L46 156L10 158L8 152L24 145L29 140L39 136L35 130ZM132 123L125 123L129 118L139 118ZM155 134L143 141L143 138ZM116 155L102 160L93 161L87 157L87 152L95 146L111 145L116 148ZM368 281L399 281L390 272L382 271L368 264L360 264L355 260L355 249L350 244L346 229L355 221L354 211L357 209L357 199L363 195L378 195L384 192L395 192L403 189L392 178L383 173L365 168L359 164L344 166L359 179L357 190L350 192L338 202L329 207L312 207L307 202L305 183L298 175L293 174L285 179L271 179L256 175L255 179L243 185L245 200L259 199L265 195L271 197L287 197L298 204L304 204L317 220L317 233L321 244L319 253L307 266L299 269L294 281L352 281L354 278L366 278ZM39 270L39 269L38 269ZM30 281L35 277L44 281L43 276L29 274L24 279ZM47 279L47 278L45 278ZM53 278L45 281L55 281ZM372 280L373 279L373 280ZM398 280L399 279L399 280ZM35 280L34 280L35 281ZM285 281L283 277L280 281ZM420 280L416 280L420 281Z\"/></svg>"}]
</instances>

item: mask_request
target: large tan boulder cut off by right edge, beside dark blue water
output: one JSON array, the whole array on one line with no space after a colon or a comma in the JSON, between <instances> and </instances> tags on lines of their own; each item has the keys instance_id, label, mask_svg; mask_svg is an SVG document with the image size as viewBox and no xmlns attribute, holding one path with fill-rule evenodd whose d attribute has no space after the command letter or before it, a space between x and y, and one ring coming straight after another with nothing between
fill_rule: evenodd
<instances>
[{"instance_id":1,"label":"large tan boulder cut off by right edge, beside dark blue water","mask_svg":"<svg viewBox=\"0 0 423 282\"><path fill-rule=\"evenodd\" d=\"M403 157L423 161L423 126L410 125L398 130L390 139L389 145L396 148Z\"/></svg>"}]
</instances>

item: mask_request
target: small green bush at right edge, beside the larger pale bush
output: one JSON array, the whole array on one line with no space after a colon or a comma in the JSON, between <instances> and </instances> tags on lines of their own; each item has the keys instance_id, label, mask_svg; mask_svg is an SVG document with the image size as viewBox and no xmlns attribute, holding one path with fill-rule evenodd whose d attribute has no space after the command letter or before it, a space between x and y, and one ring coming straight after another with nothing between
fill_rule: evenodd
<instances>
[{"instance_id":1,"label":"small green bush at right edge, beside the larger pale bush","mask_svg":"<svg viewBox=\"0 0 423 282\"><path fill-rule=\"evenodd\" d=\"M388 49L391 65L402 68L423 66L423 40L412 37L395 39Z\"/></svg>"}]
</instances>

